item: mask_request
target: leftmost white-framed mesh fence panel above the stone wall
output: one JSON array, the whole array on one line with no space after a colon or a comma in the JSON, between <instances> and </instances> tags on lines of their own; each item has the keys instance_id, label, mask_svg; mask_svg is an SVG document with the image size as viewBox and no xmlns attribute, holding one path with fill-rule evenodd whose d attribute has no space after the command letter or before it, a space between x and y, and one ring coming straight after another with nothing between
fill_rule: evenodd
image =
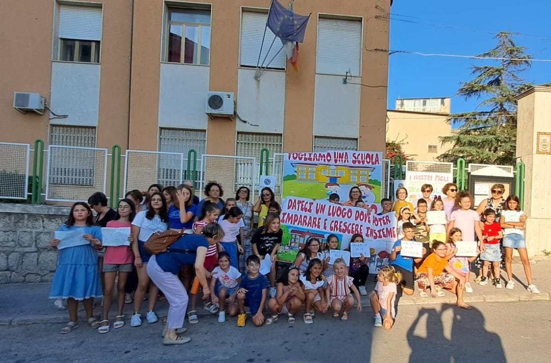
<instances>
[{"instance_id":1,"label":"leftmost white-framed mesh fence panel above the stone wall","mask_svg":"<svg viewBox=\"0 0 551 363\"><path fill-rule=\"evenodd\" d=\"M0 142L0 155L0 198L27 199L30 145Z\"/></svg>"}]
</instances>

